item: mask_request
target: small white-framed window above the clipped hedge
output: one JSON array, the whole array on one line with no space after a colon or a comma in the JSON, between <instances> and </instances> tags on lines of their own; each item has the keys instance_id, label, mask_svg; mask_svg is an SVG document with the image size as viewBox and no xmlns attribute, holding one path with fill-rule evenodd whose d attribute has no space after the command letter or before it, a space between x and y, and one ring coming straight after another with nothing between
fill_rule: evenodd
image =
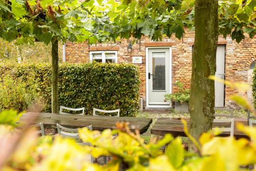
<instances>
[{"instance_id":1,"label":"small white-framed window above the clipped hedge","mask_svg":"<svg viewBox=\"0 0 256 171\"><path fill-rule=\"evenodd\" d=\"M117 51L90 51L90 61L117 63Z\"/></svg>"}]
</instances>

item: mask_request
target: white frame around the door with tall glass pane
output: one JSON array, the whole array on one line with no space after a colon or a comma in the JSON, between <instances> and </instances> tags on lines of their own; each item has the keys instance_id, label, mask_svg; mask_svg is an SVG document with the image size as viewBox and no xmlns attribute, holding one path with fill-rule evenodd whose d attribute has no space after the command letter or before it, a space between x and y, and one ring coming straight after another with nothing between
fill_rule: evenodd
<instances>
[{"instance_id":1,"label":"white frame around the door with tall glass pane","mask_svg":"<svg viewBox=\"0 0 256 171\"><path fill-rule=\"evenodd\" d=\"M169 48L169 92L172 93L172 47L146 47L146 107L152 108L165 108L171 107L170 105L149 105L148 104L148 49L168 49Z\"/></svg>"}]
</instances>

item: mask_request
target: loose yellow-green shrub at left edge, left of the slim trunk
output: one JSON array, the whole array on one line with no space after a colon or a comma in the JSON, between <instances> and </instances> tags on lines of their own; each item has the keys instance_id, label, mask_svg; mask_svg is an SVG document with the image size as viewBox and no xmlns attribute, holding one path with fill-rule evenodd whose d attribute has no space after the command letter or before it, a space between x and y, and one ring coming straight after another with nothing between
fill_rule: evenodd
<instances>
[{"instance_id":1,"label":"loose yellow-green shrub at left edge, left of the slim trunk","mask_svg":"<svg viewBox=\"0 0 256 171\"><path fill-rule=\"evenodd\" d=\"M30 75L31 76L31 75ZM26 81L8 74L0 76L0 111L14 109L27 110L34 100L39 99L36 84L31 78Z\"/></svg>"}]
</instances>

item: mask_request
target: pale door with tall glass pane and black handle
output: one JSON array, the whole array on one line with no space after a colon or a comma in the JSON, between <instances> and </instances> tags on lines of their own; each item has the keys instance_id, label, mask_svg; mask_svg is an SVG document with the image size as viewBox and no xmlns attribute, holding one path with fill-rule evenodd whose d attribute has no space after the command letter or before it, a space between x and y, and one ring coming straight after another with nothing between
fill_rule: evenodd
<instances>
[{"instance_id":1,"label":"pale door with tall glass pane and black handle","mask_svg":"<svg viewBox=\"0 0 256 171\"><path fill-rule=\"evenodd\" d=\"M170 93L169 48L148 49L148 105L168 105L164 95Z\"/></svg>"}]
</instances>

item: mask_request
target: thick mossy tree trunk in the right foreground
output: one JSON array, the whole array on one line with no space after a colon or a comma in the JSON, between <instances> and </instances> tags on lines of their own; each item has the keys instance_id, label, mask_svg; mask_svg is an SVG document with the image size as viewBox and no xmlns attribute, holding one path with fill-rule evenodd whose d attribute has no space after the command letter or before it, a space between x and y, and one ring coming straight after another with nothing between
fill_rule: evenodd
<instances>
[{"instance_id":1,"label":"thick mossy tree trunk in the right foreground","mask_svg":"<svg viewBox=\"0 0 256 171\"><path fill-rule=\"evenodd\" d=\"M215 83L208 76L216 72L218 0L196 0L195 26L189 110L190 131L198 140L214 119Z\"/></svg>"}]
</instances>

